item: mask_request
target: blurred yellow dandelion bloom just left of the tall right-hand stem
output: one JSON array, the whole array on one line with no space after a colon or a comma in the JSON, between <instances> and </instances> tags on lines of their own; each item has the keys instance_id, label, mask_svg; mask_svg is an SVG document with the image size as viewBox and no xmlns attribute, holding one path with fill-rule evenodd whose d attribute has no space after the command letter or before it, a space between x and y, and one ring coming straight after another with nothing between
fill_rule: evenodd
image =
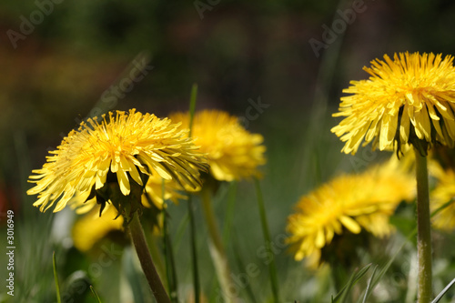
<instances>
[{"instance_id":1,"label":"blurred yellow dandelion bloom just left of the tall right-hand stem","mask_svg":"<svg viewBox=\"0 0 455 303\"><path fill-rule=\"evenodd\" d=\"M359 234L362 228L376 237L389 235L389 216L399 202L415 196L415 180L392 157L358 175L336 177L301 197L288 217L288 243L296 260L319 261L321 248L335 235Z\"/></svg>"}]
</instances>

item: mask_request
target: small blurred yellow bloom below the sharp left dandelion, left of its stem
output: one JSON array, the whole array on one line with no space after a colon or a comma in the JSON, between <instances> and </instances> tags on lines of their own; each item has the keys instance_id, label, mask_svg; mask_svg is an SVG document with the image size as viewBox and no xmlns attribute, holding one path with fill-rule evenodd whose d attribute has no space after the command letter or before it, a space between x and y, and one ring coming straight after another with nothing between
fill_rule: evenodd
<instances>
[{"instance_id":1,"label":"small blurred yellow bloom below the sharp left dandelion, left of its stem","mask_svg":"<svg viewBox=\"0 0 455 303\"><path fill-rule=\"evenodd\" d=\"M108 206L101 217L94 209L78 219L72 230L74 246L80 251L86 252L105 238L108 233L123 230L123 217L116 218L116 216L116 208Z\"/></svg>"}]
</instances>

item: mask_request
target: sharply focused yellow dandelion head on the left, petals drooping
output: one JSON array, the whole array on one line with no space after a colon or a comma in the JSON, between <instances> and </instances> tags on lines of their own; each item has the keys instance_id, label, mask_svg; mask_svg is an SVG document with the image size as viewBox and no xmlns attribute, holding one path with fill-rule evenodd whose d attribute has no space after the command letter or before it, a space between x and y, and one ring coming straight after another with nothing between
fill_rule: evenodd
<instances>
[{"instance_id":1,"label":"sharply focused yellow dandelion head on the left, petals drooping","mask_svg":"<svg viewBox=\"0 0 455 303\"><path fill-rule=\"evenodd\" d=\"M56 212L75 194L82 201L96 197L104 206L113 185L124 197L131 193L140 198L150 175L199 187L198 169L207 171L207 160L197 148L187 137L187 129L168 118L143 115L135 109L111 112L108 119L89 119L88 125L83 122L71 131L46 157L43 168L33 171L29 182L36 186L27 194L38 194L34 206L41 211L56 203Z\"/></svg>"}]
</instances>

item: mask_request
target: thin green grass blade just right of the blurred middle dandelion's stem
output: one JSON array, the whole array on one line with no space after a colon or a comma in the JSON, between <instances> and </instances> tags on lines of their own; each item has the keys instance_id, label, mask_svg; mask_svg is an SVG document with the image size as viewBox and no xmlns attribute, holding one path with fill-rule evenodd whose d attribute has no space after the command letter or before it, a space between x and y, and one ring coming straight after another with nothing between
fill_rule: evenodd
<instances>
[{"instance_id":1,"label":"thin green grass blade just right of the blurred middle dandelion's stem","mask_svg":"<svg viewBox=\"0 0 455 303\"><path fill-rule=\"evenodd\" d=\"M262 191L259 186L259 180L255 177L255 187L256 195L258 197L258 207L259 207L259 216L262 225L262 232L264 234L264 240L266 242L266 247L269 248L270 232L268 231L266 207L264 207L264 197L262 197ZM278 290L278 275L277 275L277 266L275 265L275 254L271 254L271 260L268 264L268 272L270 275L270 283L272 285L273 298L276 303L279 302L279 290Z\"/></svg>"}]
</instances>

